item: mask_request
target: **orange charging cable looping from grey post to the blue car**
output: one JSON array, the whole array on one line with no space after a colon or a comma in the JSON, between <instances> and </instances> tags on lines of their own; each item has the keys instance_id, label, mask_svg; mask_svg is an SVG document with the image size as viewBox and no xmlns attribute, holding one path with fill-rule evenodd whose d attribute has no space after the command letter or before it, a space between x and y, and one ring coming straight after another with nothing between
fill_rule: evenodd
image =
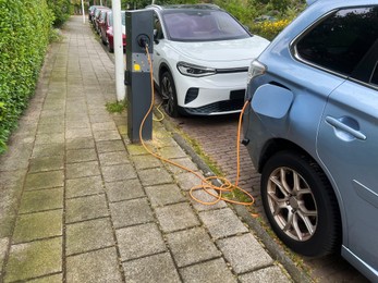
<instances>
[{"instance_id":1,"label":"orange charging cable looping from grey post to the blue car","mask_svg":"<svg viewBox=\"0 0 378 283\"><path fill-rule=\"evenodd\" d=\"M244 103L244 107L242 109L242 112L241 112L241 115L240 115L240 119L239 119L237 142L236 142L237 143L237 145L236 145L236 150L237 150L236 163L237 163L237 165L236 165L236 181L235 181L235 184L232 184L229 180L227 180L225 177L221 177L221 176L203 177L197 172L195 172L195 171L193 171L193 170L191 170L188 168L185 168L185 167L183 167L183 165L181 165L179 163L175 163L172 160L166 159L166 158L163 158L163 157L153 152L147 147L147 145L145 144L145 140L143 139L143 136L142 136L143 127L144 127L144 124L145 124L145 121L146 121L147 116L153 111L154 103L155 103L153 61L151 61L150 56L149 56L148 46L146 46L146 54L147 54L149 70L150 70L149 73L150 73L150 84L151 84L151 103L149 106L149 109L148 109L146 115L142 120L141 127L139 127L139 139L141 139L141 143L142 143L143 147L147 150L148 153L150 153L151 156L160 159L161 161L167 162L169 164L172 164L174 167L181 168L182 170L185 170L185 171L196 175L200 180L202 184L192 187L191 190L190 190L190 195L191 195L191 197L194 200L198 201L199 204L203 204L203 205L215 205L215 204L217 204L220 200L224 200L224 201L231 202L231 204L243 205L243 206L252 206L255 202L254 197L248 192L246 192L243 188L237 186L239 177L240 177L240 136L241 136L242 120L243 120L242 116L243 116L243 112L245 111L245 109L246 109L246 107L248 104L248 101L246 101ZM214 185L212 184L214 181L220 181L222 183L222 185L220 185L220 186ZM193 193L195 190L199 190L199 189L205 190L207 194L212 196L215 198L215 200L214 201L204 201L204 200L200 200L197 197L195 197ZM244 201L236 201L236 200L232 200L232 199L229 199L229 198L225 198L225 197L222 196L222 194L224 194L224 193L232 193L234 189L241 190L243 194L245 194L251 199L251 201L245 201L245 202ZM218 194L214 193L212 190L218 192Z\"/></svg>"}]
</instances>

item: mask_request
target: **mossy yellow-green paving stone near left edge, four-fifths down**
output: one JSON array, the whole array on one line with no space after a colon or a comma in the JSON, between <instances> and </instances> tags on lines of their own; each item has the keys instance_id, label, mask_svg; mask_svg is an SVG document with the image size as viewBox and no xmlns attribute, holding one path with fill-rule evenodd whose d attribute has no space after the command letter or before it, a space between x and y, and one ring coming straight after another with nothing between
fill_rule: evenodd
<instances>
[{"instance_id":1,"label":"mossy yellow-green paving stone near left edge, four-fifths down","mask_svg":"<svg viewBox=\"0 0 378 283\"><path fill-rule=\"evenodd\" d=\"M63 210L49 210L19 216L13 233L13 243L62 235Z\"/></svg>"}]
</instances>

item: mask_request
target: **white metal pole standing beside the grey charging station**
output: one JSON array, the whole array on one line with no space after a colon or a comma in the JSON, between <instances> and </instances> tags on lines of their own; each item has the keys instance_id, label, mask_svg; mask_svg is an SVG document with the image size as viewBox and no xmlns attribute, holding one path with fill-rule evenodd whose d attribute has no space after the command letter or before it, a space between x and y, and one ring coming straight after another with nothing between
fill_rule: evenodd
<instances>
[{"instance_id":1,"label":"white metal pole standing beside the grey charging station","mask_svg":"<svg viewBox=\"0 0 378 283\"><path fill-rule=\"evenodd\" d=\"M125 98L121 1L112 0L117 100Z\"/></svg>"}]
</instances>

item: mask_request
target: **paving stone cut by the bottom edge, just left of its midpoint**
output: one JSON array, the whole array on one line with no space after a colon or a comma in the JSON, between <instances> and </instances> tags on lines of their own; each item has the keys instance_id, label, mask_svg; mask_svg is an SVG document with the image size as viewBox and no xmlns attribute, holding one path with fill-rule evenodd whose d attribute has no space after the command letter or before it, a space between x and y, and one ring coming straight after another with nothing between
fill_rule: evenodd
<instances>
[{"instance_id":1,"label":"paving stone cut by the bottom edge, just left of its midpoint","mask_svg":"<svg viewBox=\"0 0 378 283\"><path fill-rule=\"evenodd\" d=\"M126 282L181 282L168 253L126 261L123 270Z\"/></svg>"}]
</instances>

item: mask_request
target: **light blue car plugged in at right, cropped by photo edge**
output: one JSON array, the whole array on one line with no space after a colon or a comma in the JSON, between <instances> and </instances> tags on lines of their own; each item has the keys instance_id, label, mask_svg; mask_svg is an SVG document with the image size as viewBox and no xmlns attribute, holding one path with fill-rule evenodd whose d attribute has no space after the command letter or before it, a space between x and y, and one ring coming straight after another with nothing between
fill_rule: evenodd
<instances>
[{"instance_id":1,"label":"light blue car plugged in at right, cropped by photo edge","mask_svg":"<svg viewBox=\"0 0 378 283\"><path fill-rule=\"evenodd\" d=\"M378 282L378 1L312 2L251 64L244 144L282 242Z\"/></svg>"}]
</instances>

